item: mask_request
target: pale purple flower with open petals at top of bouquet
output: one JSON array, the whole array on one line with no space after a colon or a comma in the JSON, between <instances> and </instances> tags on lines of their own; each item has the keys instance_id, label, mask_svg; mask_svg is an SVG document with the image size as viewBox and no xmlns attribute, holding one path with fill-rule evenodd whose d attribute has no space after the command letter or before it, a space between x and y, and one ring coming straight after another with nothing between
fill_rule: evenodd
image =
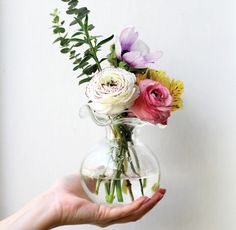
<instances>
[{"instance_id":1,"label":"pale purple flower with open petals at top of bouquet","mask_svg":"<svg viewBox=\"0 0 236 230\"><path fill-rule=\"evenodd\" d=\"M116 56L134 68L153 68L162 52L150 53L149 47L138 39L138 32L134 27L124 29L116 42Z\"/></svg>"}]
</instances>

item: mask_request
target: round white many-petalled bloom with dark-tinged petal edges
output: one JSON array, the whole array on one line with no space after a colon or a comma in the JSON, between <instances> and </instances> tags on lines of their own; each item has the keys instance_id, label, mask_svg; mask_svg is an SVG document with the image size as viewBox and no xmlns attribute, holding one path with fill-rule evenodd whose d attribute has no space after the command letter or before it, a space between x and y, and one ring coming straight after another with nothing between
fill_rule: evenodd
<instances>
[{"instance_id":1,"label":"round white many-petalled bloom with dark-tinged petal edges","mask_svg":"<svg viewBox=\"0 0 236 230\"><path fill-rule=\"evenodd\" d=\"M136 77L121 68L106 68L89 82L86 95L100 114L116 115L132 106L139 95Z\"/></svg>"}]
</instances>

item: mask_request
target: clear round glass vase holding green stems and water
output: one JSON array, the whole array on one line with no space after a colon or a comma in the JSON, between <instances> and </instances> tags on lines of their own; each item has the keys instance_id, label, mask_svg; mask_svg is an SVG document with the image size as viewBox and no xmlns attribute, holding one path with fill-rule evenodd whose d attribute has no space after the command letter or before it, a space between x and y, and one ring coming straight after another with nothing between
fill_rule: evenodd
<instances>
[{"instance_id":1,"label":"clear round glass vase holding green stems and water","mask_svg":"<svg viewBox=\"0 0 236 230\"><path fill-rule=\"evenodd\" d=\"M151 197L160 183L157 158L139 140L139 130L149 123L136 118L107 122L105 138L81 164L82 187L99 204L128 204Z\"/></svg>"}]
</instances>

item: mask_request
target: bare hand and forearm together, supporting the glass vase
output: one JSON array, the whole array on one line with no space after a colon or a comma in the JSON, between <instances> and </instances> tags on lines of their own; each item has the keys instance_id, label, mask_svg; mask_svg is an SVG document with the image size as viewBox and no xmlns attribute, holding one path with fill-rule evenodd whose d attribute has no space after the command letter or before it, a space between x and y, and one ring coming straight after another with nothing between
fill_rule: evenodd
<instances>
[{"instance_id":1,"label":"bare hand and forearm together, supporting the glass vase","mask_svg":"<svg viewBox=\"0 0 236 230\"><path fill-rule=\"evenodd\" d=\"M74 224L107 227L133 222L150 211L163 198L165 192L165 189L160 188L152 198L140 197L128 205L109 207L92 203L83 192L79 175L71 175L61 179L46 193L2 220L0 229L46 230Z\"/></svg>"}]
</instances>

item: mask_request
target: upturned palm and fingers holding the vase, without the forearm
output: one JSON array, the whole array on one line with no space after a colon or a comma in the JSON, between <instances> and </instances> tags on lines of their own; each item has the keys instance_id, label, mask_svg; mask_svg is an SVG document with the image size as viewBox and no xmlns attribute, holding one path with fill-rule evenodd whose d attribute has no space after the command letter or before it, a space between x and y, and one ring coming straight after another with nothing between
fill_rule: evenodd
<instances>
[{"instance_id":1,"label":"upturned palm and fingers holding the vase, without the forearm","mask_svg":"<svg viewBox=\"0 0 236 230\"><path fill-rule=\"evenodd\" d=\"M140 197L131 204L118 207L92 203L82 189L79 175L65 177L50 192L56 202L56 226L94 224L106 227L142 218L163 198L165 189L158 189L152 198Z\"/></svg>"}]
</instances>

